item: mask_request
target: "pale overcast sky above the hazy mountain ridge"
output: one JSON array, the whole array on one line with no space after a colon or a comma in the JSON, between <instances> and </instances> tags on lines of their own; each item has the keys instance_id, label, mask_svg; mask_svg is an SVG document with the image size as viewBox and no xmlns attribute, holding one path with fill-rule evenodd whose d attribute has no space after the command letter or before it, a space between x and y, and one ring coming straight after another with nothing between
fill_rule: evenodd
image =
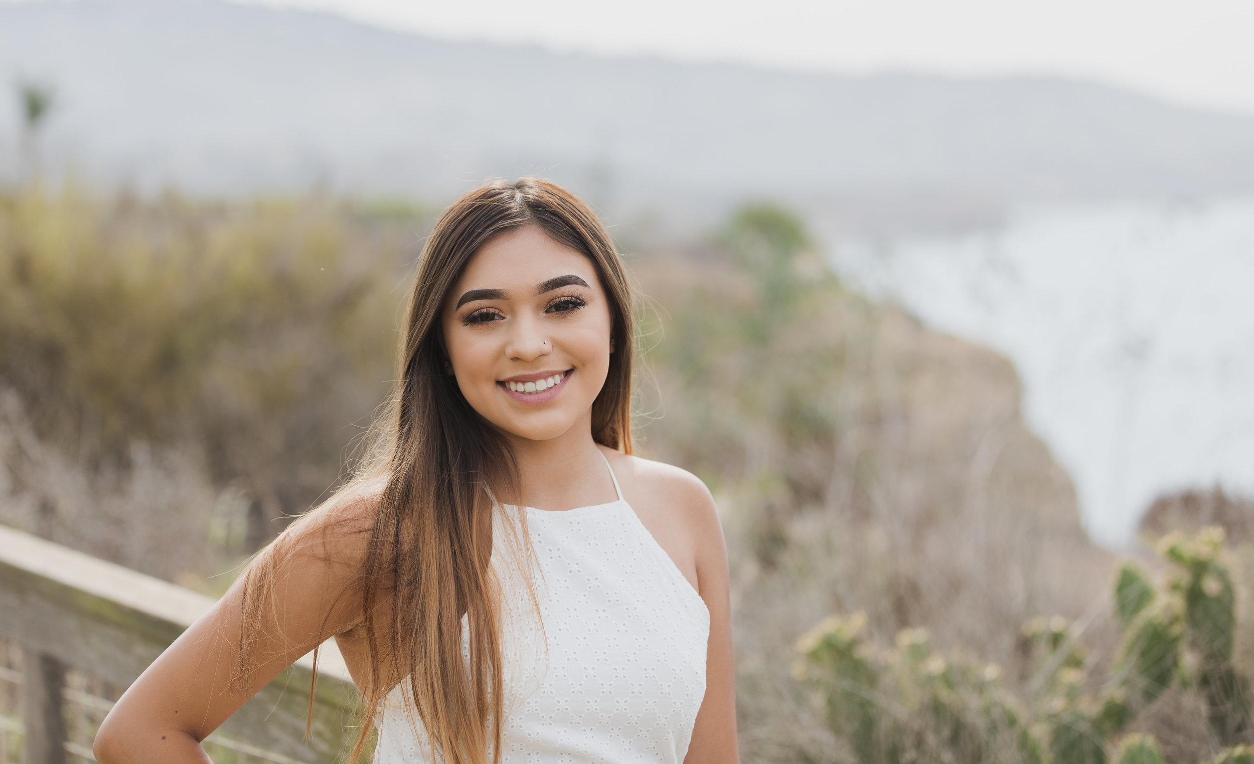
<instances>
[{"instance_id":1,"label":"pale overcast sky above the hazy mountain ridge","mask_svg":"<svg viewBox=\"0 0 1254 764\"><path fill-rule=\"evenodd\" d=\"M840 71L1062 74L1254 113L1254 0L252 1L558 50Z\"/></svg>"}]
</instances>

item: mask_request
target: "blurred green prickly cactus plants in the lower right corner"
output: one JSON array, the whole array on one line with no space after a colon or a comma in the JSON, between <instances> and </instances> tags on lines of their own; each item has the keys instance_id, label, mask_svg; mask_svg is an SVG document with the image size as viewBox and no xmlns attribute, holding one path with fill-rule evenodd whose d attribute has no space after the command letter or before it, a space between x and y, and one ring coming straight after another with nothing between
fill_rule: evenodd
<instances>
[{"instance_id":1,"label":"blurred green prickly cactus plants in the lower right corner","mask_svg":"<svg viewBox=\"0 0 1254 764\"><path fill-rule=\"evenodd\" d=\"M1233 664L1235 592L1223 565L1223 531L1204 529L1160 545L1169 574L1155 584L1125 564L1115 580L1120 651L1110 676L1093 683L1066 620L1025 625L1020 651L1036 695L1012 698L996 666L947 661L919 629L880 650L864 636L867 619L828 619L799 643L796 676L825 704L830 729L859 764L938 760L1160 764L1152 736L1125 734L1172 686L1206 701L1215 739L1234 745L1250 731L1249 680ZM1096 686L1097 689L1090 689ZM1249 760L1233 748L1216 761Z\"/></svg>"}]
</instances>

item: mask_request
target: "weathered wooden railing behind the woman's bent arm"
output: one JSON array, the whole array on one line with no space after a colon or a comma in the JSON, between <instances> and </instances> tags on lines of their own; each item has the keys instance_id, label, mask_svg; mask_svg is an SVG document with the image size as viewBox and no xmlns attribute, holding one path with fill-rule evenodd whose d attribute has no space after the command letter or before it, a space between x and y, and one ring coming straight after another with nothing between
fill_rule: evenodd
<instances>
[{"instance_id":1,"label":"weathered wooden railing behind the woman's bent arm","mask_svg":"<svg viewBox=\"0 0 1254 764\"><path fill-rule=\"evenodd\" d=\"M68 688L66 671L125 688L213 600L173 584L0 526L0 638L20 644L20 669L0 668L0 681L21 688L21 718L0 718L20 734L25 764L92 759L66 735L66 704L103 713L107 698ZM305 738L310 656L281 673L232 715L206 744L243 760L321 764L356 740L356 690L335 643L319 654L314 724ZM4 759L0 751L0 760Z\"/></svg>"}]
</instances>

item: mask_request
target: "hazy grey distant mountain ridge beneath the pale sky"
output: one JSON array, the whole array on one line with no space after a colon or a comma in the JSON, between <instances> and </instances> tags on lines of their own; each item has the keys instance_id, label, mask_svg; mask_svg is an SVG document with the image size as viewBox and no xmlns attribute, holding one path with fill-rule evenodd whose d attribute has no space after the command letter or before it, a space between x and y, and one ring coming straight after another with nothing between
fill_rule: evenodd
<instances>
[{"instance_id":1,"label":"hazy grey distant mountain ridge beneath the pale sky","mask_svg":"<svg viewBox=\"0 0 1254 764\"><path fill-rule=\"evenodd\" d=\"M604 209L709 223L765 195L853 229L1254 190L1254 118L1097 84L602 59L216 0L0 4L0 75L55 89L54 173L107 187L443 197L530 172ZM0 150L16 125L0 110Z\"/></svg>"}]
</instances>

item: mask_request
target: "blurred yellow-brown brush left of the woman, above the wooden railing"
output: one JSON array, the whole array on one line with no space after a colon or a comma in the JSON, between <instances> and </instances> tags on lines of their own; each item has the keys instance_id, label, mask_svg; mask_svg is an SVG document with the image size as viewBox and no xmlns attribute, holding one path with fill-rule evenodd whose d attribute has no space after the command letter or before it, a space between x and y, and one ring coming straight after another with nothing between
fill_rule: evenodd
<instances>
[{"instance_id":1,"label":"blurred yellow-brown brush left of the woman, above the wooden railing","mask_svg":"<svg viewBox=\"0 0 1254 764\"><path fill-rule=\"evenodd\" d=\"M429 218L0 195L0 521L217 589L369 425Z\"/></svg>"}]
</instances>

